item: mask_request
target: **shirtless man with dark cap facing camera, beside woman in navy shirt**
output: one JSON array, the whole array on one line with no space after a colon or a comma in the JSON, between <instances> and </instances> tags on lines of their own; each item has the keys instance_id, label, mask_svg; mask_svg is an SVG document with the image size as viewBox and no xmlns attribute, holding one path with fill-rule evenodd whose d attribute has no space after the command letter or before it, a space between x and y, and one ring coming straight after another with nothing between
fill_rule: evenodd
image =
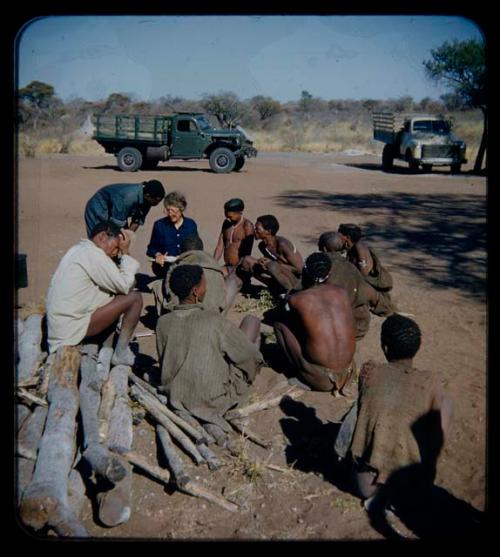
<instances>
[{"instance_id":1,"label":"shirtless man with dark cap facing camera, beside woman in navy shirt","mask_svg":"<svg viewBox=\"0 0 500 557\"><path fill-rule=\"evenodd\" d=\"M241 199L230 199L224 203L226 219L214 251L214 259L218 261L224 255L225 273L239 265L241 259L251 255L254 228L253 224L243 216L245 204Z\"/></svg>"}]
</instances>

